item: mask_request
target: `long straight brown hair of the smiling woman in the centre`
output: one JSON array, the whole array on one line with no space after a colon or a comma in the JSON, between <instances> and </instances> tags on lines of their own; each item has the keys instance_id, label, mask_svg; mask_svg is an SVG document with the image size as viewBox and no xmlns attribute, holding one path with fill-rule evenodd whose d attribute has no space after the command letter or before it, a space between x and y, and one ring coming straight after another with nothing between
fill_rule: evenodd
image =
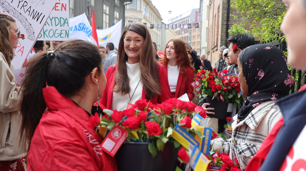
<instances>
[{"instance_id":1,"label":"long straight brown hair of the smiling woman in the centre","mask_svg":"<svg viewBox=\"0 0 306 171\"><path fill-rule=\"evenodd\" d=\"M121 34L116 64L117 71L115 74L116 86L113 91L121 92L122 95L130 92L129 77L126 69L128 56L124 50L124 38L127 31L134 31L144 38L144 43L140 48L140 80L145 83L143 86L146 93L146 99L150 100L156 95L161 94L158 71L159 64L157 60L155 60L150 33L147 27L140 22L128 23Z\"/></svg>"}]
</instances>

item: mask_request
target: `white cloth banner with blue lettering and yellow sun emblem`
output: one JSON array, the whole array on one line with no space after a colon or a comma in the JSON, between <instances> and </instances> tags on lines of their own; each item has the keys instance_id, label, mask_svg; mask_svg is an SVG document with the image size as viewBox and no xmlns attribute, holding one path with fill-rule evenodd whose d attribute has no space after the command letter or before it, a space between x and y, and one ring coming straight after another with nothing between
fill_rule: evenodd
<instances>
[{"instance_id":1,"label":"white cloth banner with blue lettering and yellow sun emblem","mask_svg":"<svg viewBox=\"0 0 306 171\"><path fill-rule=\"evenodd\" d=\"M92 42L91 25L86 17L86 14L70 18L69 20L69 39L81 39ZM106 43L112 42L118 48L121 37L122 20L114 26L99 30L97 29L99 45L106 46Z\"/></svg>"}]
</instances>

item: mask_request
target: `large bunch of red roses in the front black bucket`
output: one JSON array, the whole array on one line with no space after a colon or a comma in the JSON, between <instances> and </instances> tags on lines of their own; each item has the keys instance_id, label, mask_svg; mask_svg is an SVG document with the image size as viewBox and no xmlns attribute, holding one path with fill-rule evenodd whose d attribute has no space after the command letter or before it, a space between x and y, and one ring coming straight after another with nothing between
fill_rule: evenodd
<instances>
[{"instance_id":1,"label":"large bunch of red roses in the front black bucket","mask_svg":"<svg viewBox=\"0 0 306 171\"><path fill-rule=\"evenodd\" d=\"M124 111L104 109L104 116L99 114L90 117L88 125L96 127L99 133L105 137L105 130L112 130L114 126L121 126L128 131L125 141L149 142L148 149L154 157L158 151L163 151L165 143L179 144L172 133L176 125L181 126L191 136L204 136L200 131L191 128L191 118L189 116L198 113L206 118L203 107L192 102L185 102L175 98L168 99L162 104L152 104L147 100L138 100L132 108Z\"/></svg>"}]
</instances>

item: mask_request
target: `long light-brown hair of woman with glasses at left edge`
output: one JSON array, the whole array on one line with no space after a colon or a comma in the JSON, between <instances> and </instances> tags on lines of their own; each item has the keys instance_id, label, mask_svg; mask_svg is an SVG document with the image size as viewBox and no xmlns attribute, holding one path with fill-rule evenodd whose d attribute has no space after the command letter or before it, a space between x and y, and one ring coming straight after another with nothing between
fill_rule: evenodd
<instances>
[{"instance_id":1,"label":"long light-brown hair of woman with glasses at left edge","mask_svg":"<svg viewBox=\"0 0 306 171\"><path fill-rule=\"evenodd\" d=\"M14 47L10 40L11 33L9 29L11 28L10 22L16 22L11 16L6 14L0 14L0 52L4 55L6 62L11 66L11 61L14 57Z\"/></svg>"}]
</instances>

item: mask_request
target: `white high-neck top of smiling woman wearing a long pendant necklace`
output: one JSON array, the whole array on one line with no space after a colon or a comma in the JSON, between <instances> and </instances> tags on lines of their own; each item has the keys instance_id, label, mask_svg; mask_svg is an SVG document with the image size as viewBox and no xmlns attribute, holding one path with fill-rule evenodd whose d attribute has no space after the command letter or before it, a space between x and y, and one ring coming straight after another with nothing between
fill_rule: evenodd
<instances>
[{"instance_id":1,"label":"white high-neck top of smiling woman wearing a long pendant necklace","mask_svg":"<svg viewBox=\"0 0 306 171\"><path fill-rule=\"evenodd\" d=\"M140 81L140 63L137 64L128 64L126 62L126 69L129 76L129 84L130 84L130 97L131 104L135 104L137 100L141 100L142 97L142 82ZM139 84L138 84L139 82ZM137 86L138 84L138 86ZM137 86L137 88L136 88ZM136 90L135 90L136 89ZM135 91L135 93L134 93ZM134 95L132 96L132 94ZM122 95L121 92L115 93L113 92L113 103L112 103L112 110L117 109L118 111L123 111L128 106L129 93Z\"/></svg>"}]
</instances>

